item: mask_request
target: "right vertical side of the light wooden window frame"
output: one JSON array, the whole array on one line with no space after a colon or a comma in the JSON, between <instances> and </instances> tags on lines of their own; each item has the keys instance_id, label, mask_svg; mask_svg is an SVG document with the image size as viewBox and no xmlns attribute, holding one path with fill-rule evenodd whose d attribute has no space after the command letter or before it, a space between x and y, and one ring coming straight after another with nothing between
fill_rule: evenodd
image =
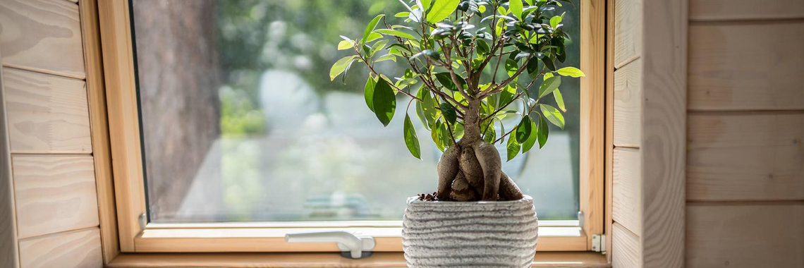
<instances>
[{"instance_id":1,"label":"right vertical side of the light wooden window frame","mask_svg":"<svg viewBox=\"0 0 804 268\"><path fill-rule=\"evenodd\" d=\"M592 236L603 233L605 151L605 0L580 2L580 210L581 228L592 250Z\"/></svg>"}]
</instances>

